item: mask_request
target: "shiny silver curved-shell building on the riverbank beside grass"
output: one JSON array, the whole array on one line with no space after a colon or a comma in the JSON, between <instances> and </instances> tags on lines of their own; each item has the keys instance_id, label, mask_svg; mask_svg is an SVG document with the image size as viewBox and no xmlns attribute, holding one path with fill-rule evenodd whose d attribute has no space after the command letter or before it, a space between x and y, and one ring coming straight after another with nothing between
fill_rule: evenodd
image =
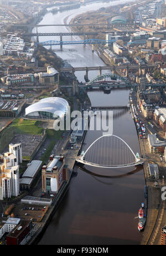
<instances>
[{"instance_id":1,"label":"shiny silver curved-shell building on the riverbank beside grass","mask_svg":"<svg viewBox=\"0 0 166 256\"><path fill-rule=\"evenodd\" d=\"M68 112L69 104L63 98L49 97L42 99L25 109L25 115L27 116L46 116L49 118L64 117Z\"/></svg>"}]
</instances>

